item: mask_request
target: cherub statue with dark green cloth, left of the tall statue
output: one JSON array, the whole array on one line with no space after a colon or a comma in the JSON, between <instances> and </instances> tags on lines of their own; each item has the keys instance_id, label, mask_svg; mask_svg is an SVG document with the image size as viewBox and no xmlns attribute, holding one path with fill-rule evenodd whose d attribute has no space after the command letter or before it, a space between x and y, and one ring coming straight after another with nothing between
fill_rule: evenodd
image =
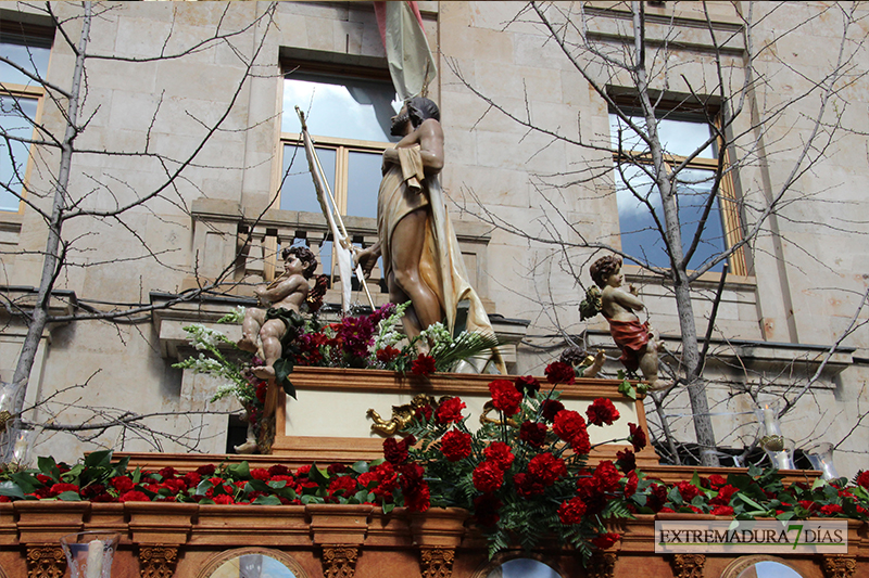
<instances>
[{"instance_id":1,"label":"cherub statue with dark green cloth, left of the tall statue","mask_svg":"<svg viewBox=\"0 0 869 578\"><path fill-rule=\"evenodd\" d=\"M262 365L252 368L261 380L275 377L274 363L282 352L281 339L289 327L291 311L299 308L311 291L307 280L317 268L317 259L307 247L287 247L280 252L284 259L284 273L268 285L253 290L264 307L249 307L241 323L239 349L256 354Z\"/></svg>"}]
</instances>

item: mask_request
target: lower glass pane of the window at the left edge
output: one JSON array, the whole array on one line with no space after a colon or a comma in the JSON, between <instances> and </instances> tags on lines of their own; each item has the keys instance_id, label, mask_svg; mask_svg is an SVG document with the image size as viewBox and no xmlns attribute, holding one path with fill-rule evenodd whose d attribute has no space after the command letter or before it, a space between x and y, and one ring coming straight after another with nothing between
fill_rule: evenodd
<instances>
[{"instance_id":1,"label":"lower glass pane of the window at the left edge","mask_svg":"<svg viewBox=\"0 0 869 578\"><path fill-rule=\"evenodd\" d=\"M10 137L23 139L33 138L34 127L28 119L36 117L36 99L0 97L0 127ZM22 180L27 169L29 145L0 139L0 210L18 210L18 198L9 192L5 187L15 193L22 192Z\"/></svg>"}]
</instances>

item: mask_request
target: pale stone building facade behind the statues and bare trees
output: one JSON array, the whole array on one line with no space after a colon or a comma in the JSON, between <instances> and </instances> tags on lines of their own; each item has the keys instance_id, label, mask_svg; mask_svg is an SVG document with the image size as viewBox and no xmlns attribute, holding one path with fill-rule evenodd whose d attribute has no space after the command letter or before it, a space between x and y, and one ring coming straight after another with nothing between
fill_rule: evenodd
<instances>
[{"instance_id":1,"label":"pale stone building facade behind the statues and bare trees","mask_svg":"<svg viewBox=\"0 0 869 578\"><path fill-rule=\"evenodd\" d=\"M3 46L35 46L33 38L42 38L48 80L68 89L80 20L64 24L67 42L52 30L46 14L7 4L0 7ZM590 348L604 347L612 358L605 372L614 376L619 365L606 322L601 317L580 321L578 311L583 286L591 284L588 265L599 255L593 245L621 246L625 227L608 150L612 111L591 82L605 85L622 100L635 87L624 75L606 76L604 68L592 68L596 77L580 75L524 2L418 4L439 67L430 95L442 111L442 182L449 208L471 282L507 342L512 372L541 374L569 337ZM740 230L748 235L759 228L745 251L730 259L711 333L705 376L719 444L739 449L751 444L756 402L793 397L820 369L807 395L783 418L782 429L797 447L841 441L836 465L851 476L869 467L866 426L860 423L869 406L869 333L861 325L867 312L858 310L869 271L861 248L869 215L861 195L869 177L869 59L860 40L867 34L860 14L854 15L856 23L842 44L846 60L837 64L842 14L854 7L843 12L828 3L765 3L753 9L759 24L746 38L747 2L709 3L707 13L700 2L646 4L650 46L667 54L652 66L670 70L652 87L662 102L715 97L717 62L729 87L741 86L750 65L757 75L748 84L745 112L729 129L735 141L728 151L730 160L745 158L728 172L732 194L727 203L735 208L730 217L716 217L723 219L728 234ZM79 10L64 3L54 8L61 18ZM571 9L570 3L556 8ZM630 40L626 4L579 8L572 5L575 22L584 26L579 28L602 46L615 47L613 55L624 55L619 47ZM307 179L303 156L293 156L294 105L308 111L311 132L328 150L324 158L335 170L332 185L354 241L374 241L378 154L389 139L343 120L332 128L330 117L347 104L335 104L339 112L327 108L324 114L318 107L328 106L320 98L326 88L316 98L304 89L350 87L352 106L370 105L382 128L390 114L383 107L388 99L381 99L389 77L375 13L370 2L98 3L95 11L100 16L93 21L88 52L121 60L87 61L81 118L89 120L76 140L83 152L74 156L70 192L83 213L111 213L159 194L116 218L83 215L64 224L64 239L74 241L68 254L73 266L58 277L52 313L162 306L185 292L219 283L201 298L146 310L119 324L53 323L43 334L30 376L28 402L50 396L61 402L37 409L32 414L36 421L76 423L92 415L62 403L117 408L155 414L146 423L174 432L175 439L154 440L130 429L118 435L112 428L84 442L43 432L36 451L74 459L96 444L129 451L196 447L221 453L227 415L198 412L235 407L209 403L214 382L172 368L179 356L192 355L181 327L213 322L245 303L240 297L250 294L252 283L274 275L276 251L288 243L320 249L322 269L329 272L325 220L312 208L310 184L302 184ZM16 23L26 26L16 28ZM30 40L12 35L16 29ZM161 53L173 57L158 59ZM756 57L747 59L747 53ZM794 159L816 127L823 82L833 74L839 75L835 98L822 117L820 138L808 151L811 166L794 171ZM64 117L47 91L22 77L2 81L4 87L14 85L18 98L36 103L41 125L62 133ZM671 119L692 121L691 114L676 113ZM774 123L757 125L772 113ZM5 123L8 116L3 118ZM219 128L209 133L218 121ZM522 121L543 131L529 130ZM318 132L316 123L328 128ZM834 138L826 138L834 126ZM554 139L556 133L567 140ZM701 160L697 170L703 169ZM58 162L53 151L34 146L21 179L27 202L13 198L0 213L0 284L4 303L12 304L2 313L4 382L12 378L26 331L16 308L26 310L30 287L39 285L47 229L36 209L50 210L51 196L40 192L50 190ZM163 188L167 175L180 168L181 176ZM600 175L590 181L583 170ZM764 201L794 179L780 210L758 224ZM722 214L730 210L721 201ZM554 239L562 244L551 243ZM720 243L728 247L740 239L728 236ZM671 286L630 264L626 273L642 287L652 322L678 356L680 325ZM383 303L376 277L369 286ZM719 279L710 270L694 284L701 334ZM330 295L335 300L337 290ZM361 299L360 293L354 295ZM849 334L840 342L845 332ZM76 384L86 387L56 394ZM746 388L755 399L742 393ZM653 424L667 415L682 432L681 439L693 436L684 394L672 393L659 414L647 401L647 413ZM660 431L653 425L653 433Z\"/></svg>"}]
</instances>

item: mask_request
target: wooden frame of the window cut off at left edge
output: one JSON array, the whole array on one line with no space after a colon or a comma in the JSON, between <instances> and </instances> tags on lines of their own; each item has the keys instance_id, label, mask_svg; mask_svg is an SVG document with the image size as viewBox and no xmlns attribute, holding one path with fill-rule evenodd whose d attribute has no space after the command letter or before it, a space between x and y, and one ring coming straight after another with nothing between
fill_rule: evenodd
<instances>
[{"instance_id":1,"label":"wooden frame of the window cut off at left edge","mask_svg":"<svg viewBox=\"0 0 869 578\"><path fill-rule=\"evenodd\" d=\"M51 54L52 48L54 43L54 29L50 26L42 26L39 24L27 24L23 22L15 22L15 21L5 21L0 22L0 33L10 34L14 36L23 36L26 38L38 38L45 41L45 43L49 44L48 47L36 47L36 48L48 48L49 50L49 63L46 67L46 73L43 75L43 79L48 79L49 69L51 68ZM18 42L3 42L9 44L17 44ZM23 44L27 46L27 44ZM34 124L39 125L42 121L42 108L45 106L46 101L46 89L42 85L18 85L16 82L3 82L0 81L0 97L8 97L15 99L32 99L36 100L36 115L34 116ZM37 126L34 126L30 136L34 140L37 140L39 137L39 130ZM29 181L30 175L33 172L33 155L34 155L34 144L29 144L27 146L27 159L24 164L24 175L21 181L21 193L18 198L18 208L16 210L11 209L2 209L0 208L0 219L3 216L11 216L11 215L22 215L24 213L24 207L26 205L27 192L29 190Z\"/></svg>"}]
</instances>

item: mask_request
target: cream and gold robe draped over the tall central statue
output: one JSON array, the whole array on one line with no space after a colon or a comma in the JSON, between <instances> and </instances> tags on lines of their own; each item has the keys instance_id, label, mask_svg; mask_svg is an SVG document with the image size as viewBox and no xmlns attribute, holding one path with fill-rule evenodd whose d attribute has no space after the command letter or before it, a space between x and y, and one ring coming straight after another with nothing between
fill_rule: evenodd
<instances>
[{"instance_id":1,"label":"cream and gold robe draped over the tall central statue","mask_svg":"<svg viewBox=\"0 0 869 578\"><path fill-rule=\"evenodd\" d=\"M419 274L438 296L446 316L446 327L450 333L454 332L458 304L467 300L469 307L465 330L494 335L482 301L467 281L465 261L446 214L440 180L437 176L426 177L423 172L418 144L396 150L401 163L389 165L377 196L377 233L383 256L383 275L388 278L392 269L390 254L395 226L408 213L428 207ZM501 372L506 373L500 356L495 355L494 358Z\"/></svg>"}]
</instances>

